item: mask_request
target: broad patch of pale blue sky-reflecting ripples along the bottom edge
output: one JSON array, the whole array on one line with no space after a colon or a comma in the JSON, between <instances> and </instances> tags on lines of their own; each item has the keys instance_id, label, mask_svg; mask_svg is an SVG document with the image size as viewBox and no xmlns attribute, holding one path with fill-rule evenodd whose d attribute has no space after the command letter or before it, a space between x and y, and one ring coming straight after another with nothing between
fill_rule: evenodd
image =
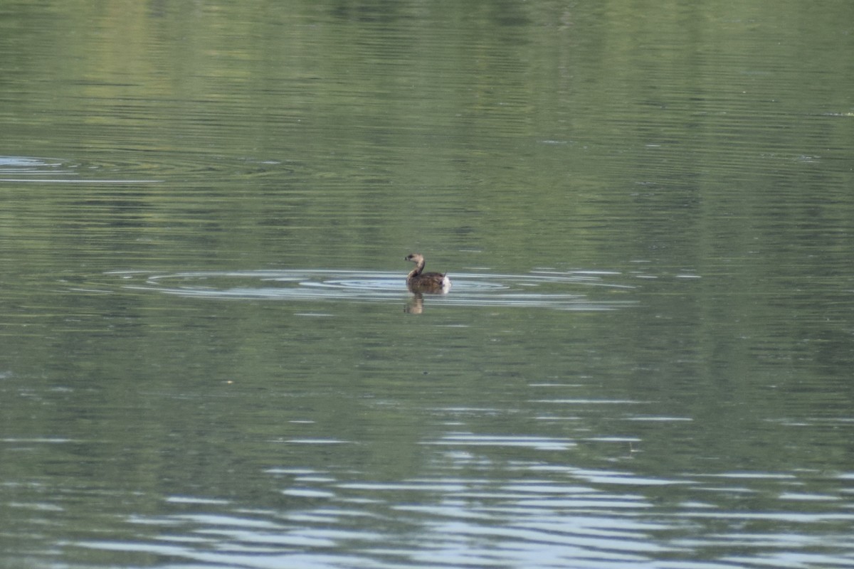
<instances>
[{"instance_id":1,"label":"broad patch of pale blue sky-reflecting ripples along the bottom edge","mask_svg":"<svg viewBox=\"0 0 854 569\"><path fill-rule=\"evenodd\" d=\"M532 450L538 448L534 443ZM237 509L206 496L173 496L165 504L167 511L126 520L126 525L140 528L136 541L104 537L69 546L123 554L129 561L154 555L176 563L253 569L723 569L847 566L845 560L850 559L844 528L852 514L844 509L804 515L787 510L780 498L769 498L767 508L744 512L710 501L705 495L725 488L705 477L694 485L692 475L657 479L622 470L523 461L508 465L505 479L490 479L492 462L486 456L456 450L446 460L459 469L457 475L391 481L354 479L352 473L341 477L310 467L270 467L265 473L278 485L283 504L278 511ZM762 473L757 478L763 478ZM770 490L773 496L791 482L751 490ZM646 494L651 487L669 487L670 494L682 500L669 508ZM779 520L789 524L790 531L780 534L762 525ZM744 525L752 522L755 525L746 530ZM816 524L839 531L813 535L810 526ZM164 531L152 537L144 535L145 528ZM727 543L739 543L737 556L722 553ZM804 546L810 551L796 552ZM345 550L348 553L339 553Z\"/></svg>"}]
</instances>

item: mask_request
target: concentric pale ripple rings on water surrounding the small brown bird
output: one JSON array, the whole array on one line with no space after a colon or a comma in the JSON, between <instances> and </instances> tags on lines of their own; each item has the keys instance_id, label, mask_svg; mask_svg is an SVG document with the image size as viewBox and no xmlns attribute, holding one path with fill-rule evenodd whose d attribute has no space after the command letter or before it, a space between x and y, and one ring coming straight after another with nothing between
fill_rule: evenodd
<instances>
[{"instance_id":1,"label":"concentric pale ripple rings on water surrounding the small brown bird","mask_svg":"<svg viewBox=\"0 0 854 569\"><path fill-rule=\"evenodd\" d=\"M632 287L606 282L617 273L587 271L528 275L458 273L447 294L425 295L432 305L514 306L563 311L611 311L634 305L628 299L588 298L592 287L627 292ZM346 300L399 302L412 299L400 273L346 270L185 271L152 274L113 271L125 290L206 299Z\"/></svg>"}]
</instances>

